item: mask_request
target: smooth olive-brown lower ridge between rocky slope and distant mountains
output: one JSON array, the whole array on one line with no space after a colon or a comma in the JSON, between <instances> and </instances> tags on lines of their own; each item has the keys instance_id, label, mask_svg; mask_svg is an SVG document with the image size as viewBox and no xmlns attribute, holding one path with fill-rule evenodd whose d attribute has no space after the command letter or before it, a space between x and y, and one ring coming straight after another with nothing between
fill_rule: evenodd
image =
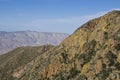
<instances>
[{"instance_id":1,"label":"smooth olive-brown lower ridge between rocky slope and distant mountains","mask_svg":"<svg viewBox=\"0 0 120 80\"><path fill-rule=\"evenodd\" d=\"M14 76L19 76L19 74L16 73L17 71L20 70L21 73L21 69L23 69L26 64L29 64L29 62L33 61L37 56L43 55L43 53L47 52L52 47L52 45L18 47L7 54L1 55L0 80L13 80L10 75L13 71L15 71Z\"/></svg>"}]
</instances>

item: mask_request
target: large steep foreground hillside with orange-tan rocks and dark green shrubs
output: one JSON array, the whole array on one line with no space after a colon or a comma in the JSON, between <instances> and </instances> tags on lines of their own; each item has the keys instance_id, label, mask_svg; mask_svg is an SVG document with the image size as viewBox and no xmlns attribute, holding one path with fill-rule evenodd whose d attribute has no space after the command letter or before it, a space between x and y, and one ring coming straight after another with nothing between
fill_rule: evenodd
<instances>
[{"instance_id":1,"label":"large steep foreground hillside with orange-tan rocks and dark green shrubs","mask_svg":"<svg viewBox=\"0 0 120 80\"><path fill-rule=\"evenodd\" d=\"M120 80L120 11L90 20L60 45L11 66L4 61L1 80Z\"/></svg>"}]
</instances>

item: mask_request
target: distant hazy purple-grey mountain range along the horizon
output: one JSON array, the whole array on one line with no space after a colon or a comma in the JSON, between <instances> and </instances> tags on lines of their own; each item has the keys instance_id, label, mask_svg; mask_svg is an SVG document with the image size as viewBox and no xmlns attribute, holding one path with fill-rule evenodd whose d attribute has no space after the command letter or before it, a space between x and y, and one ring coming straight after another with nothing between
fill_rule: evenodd
<instances>
[{"instance_id":1,"label":"distant hazy purple-grey mountain range along the horizon","mask_svg":"<svg viewBox=\"0 0 120 80\"><path fill-rule=\"evenodd\" d=\"M0 53L20 46L58 45L68 34L35 31L0 32Z\"/></svg>"}]
</instances>

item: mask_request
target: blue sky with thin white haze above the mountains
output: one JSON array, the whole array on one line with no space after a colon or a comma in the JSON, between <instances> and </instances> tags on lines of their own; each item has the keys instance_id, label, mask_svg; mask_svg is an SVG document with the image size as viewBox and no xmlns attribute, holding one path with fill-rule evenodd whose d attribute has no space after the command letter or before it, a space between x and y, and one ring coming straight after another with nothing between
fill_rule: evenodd
<instances>
[{"instance_id":1,"label":"blue sky with thin white haze above the mountains","mask_svg":"<svg viewBox=\"0 0 120 80\"><path fill-rule=\"evenodd\" d=\"M0 31L71 34L114 9L120 10L120 0L0 0Z\"/></svg>"}]
</instances>

